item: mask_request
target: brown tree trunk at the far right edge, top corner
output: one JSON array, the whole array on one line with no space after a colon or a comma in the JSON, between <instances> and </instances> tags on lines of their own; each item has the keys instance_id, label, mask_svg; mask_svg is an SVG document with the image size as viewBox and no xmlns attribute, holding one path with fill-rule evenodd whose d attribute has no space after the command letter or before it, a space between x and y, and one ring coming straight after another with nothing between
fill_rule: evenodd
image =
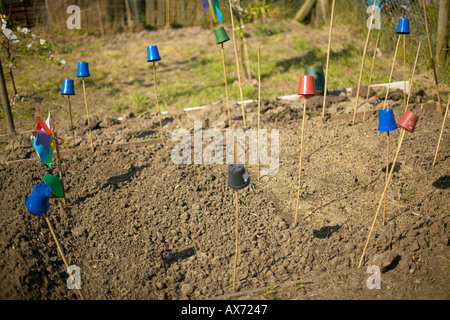
<instances>
[{"instance_id":1,"label":"brown tree trunk at the far right edge, top corner","mask_svg":"<svg viewBox=\"0 0 450 320\"><path fill-rule=\"evenodd\" d=\"M449 0L439 1L439 20L438 20L438 35L436 46L436 72L439 75L445 69L445 64L448 55L448 19L449 19Z\"/></svg>"}]
</instances>

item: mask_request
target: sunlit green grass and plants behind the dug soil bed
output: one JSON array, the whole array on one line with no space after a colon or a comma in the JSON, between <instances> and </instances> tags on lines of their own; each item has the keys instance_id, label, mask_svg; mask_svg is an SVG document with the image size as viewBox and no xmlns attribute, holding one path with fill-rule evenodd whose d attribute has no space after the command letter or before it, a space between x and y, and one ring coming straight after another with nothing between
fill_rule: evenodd
<instances>
[{"instance_id":1,"label":"sunlit green grass and plants behind the dug soil bed","mask_svg":"<svg viewBox=\"0 0 450 320\"><path fill-rule=\"evenodd\" d=\"M225 99L223 87L223 69L220 49L215 44L213 28L218 22L211 20L209 12L205 13L201 1L169 1L170 24L167 26L163 15L163 7L156 7L152 14L158 19L151 20L146 10L145 1L140 2L139 10L126 8L126 1L99 1L103 31L100 30L98 7L96 1L72 1L82 8L81 30L68 30L65 26L66 2L55 0L49 10L49 16L40 16L34 26L23 29L13 24L13 30L21 40L10 49L7 59L5 39L1 51L4 70L14 72L14 85L18 95L11 97L15 119L28 119L22 127L30 128L36 114L45 114L46 110L66 114L67 98L60 95L64 78L74 78L76 63L89 61L92 78L87 79L89 99L94 105L93 114L122 116L126 112L145 112L154 110L153 74L145 60L145 45L159 43L160 54L164 57L158 64L158 93L163 110L170 108L187 108L205 105ZM161 1L160 1L161 2ZM131 1L130 3L133 3ZM150 1L148 1L148 4ZM162 0L161 3L166 3ZM228 2L221 1L224 16L223 26L231 36ZM325 67L329 20L313 27L311 14L303 23L293 20L303 1L241 1L247 14L242 22L245 28L240 34L244 37L248 48L249 77L244 68L244 99L257 97L257 52L261 45L262 96L274 97L295 94L298 78L304 68L311 65ZM73 3L71 3L73 4ZM264 5L267 12L249 14L252 8ZM154 8L154 7L152 7ZM159 8L159 9L158 9ZM332 52L329 69L329 90L349 88L357 85L359 69L365 38L367 36L365 1L336 1ZM397 41L395 33L397 21L407 16L411 21L411 35L407 39L406 61L407 78L409 80L419 42L422 42L419 63L416 69L418 86L433 92L434 82L430 69L430 58L426 32L424 27L421 1L411 5L383 13L379 50L375 62L372 83L388 81L392 56ZM435 46L437 32L438 1L431 1L427 6L428 23L431 31L432 46ZM131 12L131 22L127 14ZM134 13L133 13L134 12ZM48 19L48 20L46 20ZM182 21L183 19L183 21ZM159 21L159 22L158 22ZM130 22L130 23L129 23ZM240 21L237 21L239 27ZM19 27L19 29L17 29ZM183 39L174 43L160 42L162 34L187 34L183 28L201 28L203 32L211 32L207 43L193 44L193 39ZM243 32L242 32L243 30ZM370 64L376 32L373 30L366 57L363 85L368 83ZM239 32L237 32L239 39ZM41 42L45 40L44 43ZM131 39L131 40L130 40ZM136 44L132 44L136 39ZM146 40L147 39L147 40ZM114 45L114 44L116 45ZM121 44L122 43L122 44ZM30 46L31 44L31 46ZM239 100L239 88L236 85L237 73L231 41L226 43L226 61L230 97ZM242 51L239 45L238 50ZM142 58L144 56L144 58ZM244 61L245 62L245 61ZM403 46L398 52L397 68L393 81L403 79ZM243 66L244 67L244 66ZM439 75L446 101L446 90L450 84L450 68L447 65ZM13 81L6 73L8 92L13 92ZM74 98L74 104L82 103L81 91ZM79 101L78 101L78 100ZM107 110L107 111L105 111ZM83 108L75 108L75 115L82 116ZM3 111L0 118L4 118ZM17 121L16 121L17 122ZM18 125L16 125L18 126ZM4 127L4 126L3 126ZM18 126L20 127L20 125ZM26 129L23 128L23 129ZM4 130L4 129L3 129Z\"/></svg>"}]
</instances>

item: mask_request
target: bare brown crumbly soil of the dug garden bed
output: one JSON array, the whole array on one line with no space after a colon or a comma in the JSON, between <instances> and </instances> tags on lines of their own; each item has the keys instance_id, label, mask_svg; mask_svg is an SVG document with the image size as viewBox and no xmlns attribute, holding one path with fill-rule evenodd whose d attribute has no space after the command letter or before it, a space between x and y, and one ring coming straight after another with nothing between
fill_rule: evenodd
<instances>
[{"instance_id":1,"label":"bare brown crumbly soil of the dug garden bed","mask_svg":"<svg viewBox=\"0 0 450 320\"><path fill-rule=\"evenodd\" d=\"M383 96L382 94L380 97ZM95 121L95 152L84 118L76 140L60 128L67 201L51 198L51 221L69 265L81 270L81 292L92 300L225 299L444 299L450 298L449 131L434 158L442 116L421 103L414 133L407 132L387 193L386 224L377 219L362 267L358 263L385 182L386 135L377 130L382 103L371 98L366 119L351 125L354 98L341 95L321 105L308 100L298 223L303 103L265 99L262 128L279 129L280 166L239 191L239 253L236 292L234 193L227 165L175 165L170 139L178 128L227 127L225 103L165 115L165 144L156 113ZM384 96L383 96L384 97ZM319 99L319 98L317 98ZM330 98L331 99L331 98ZM423 101L422 101L422 100ZM403 96L389 100L396 119ZM245 106L257 125L257 104ZM358 110L359 112L364 109ZM240 106L232 103L233 127L242 128ZM336 118L341 115L341 118ZM398 129L390 134L390 162ZM3 137L0 165L1 299L79 299L66 286L65 266L43 217L25 199L46 173L31 133ZM381 268L381 289L369 289L367 268Z\"/></svg>"}]
</instances>

